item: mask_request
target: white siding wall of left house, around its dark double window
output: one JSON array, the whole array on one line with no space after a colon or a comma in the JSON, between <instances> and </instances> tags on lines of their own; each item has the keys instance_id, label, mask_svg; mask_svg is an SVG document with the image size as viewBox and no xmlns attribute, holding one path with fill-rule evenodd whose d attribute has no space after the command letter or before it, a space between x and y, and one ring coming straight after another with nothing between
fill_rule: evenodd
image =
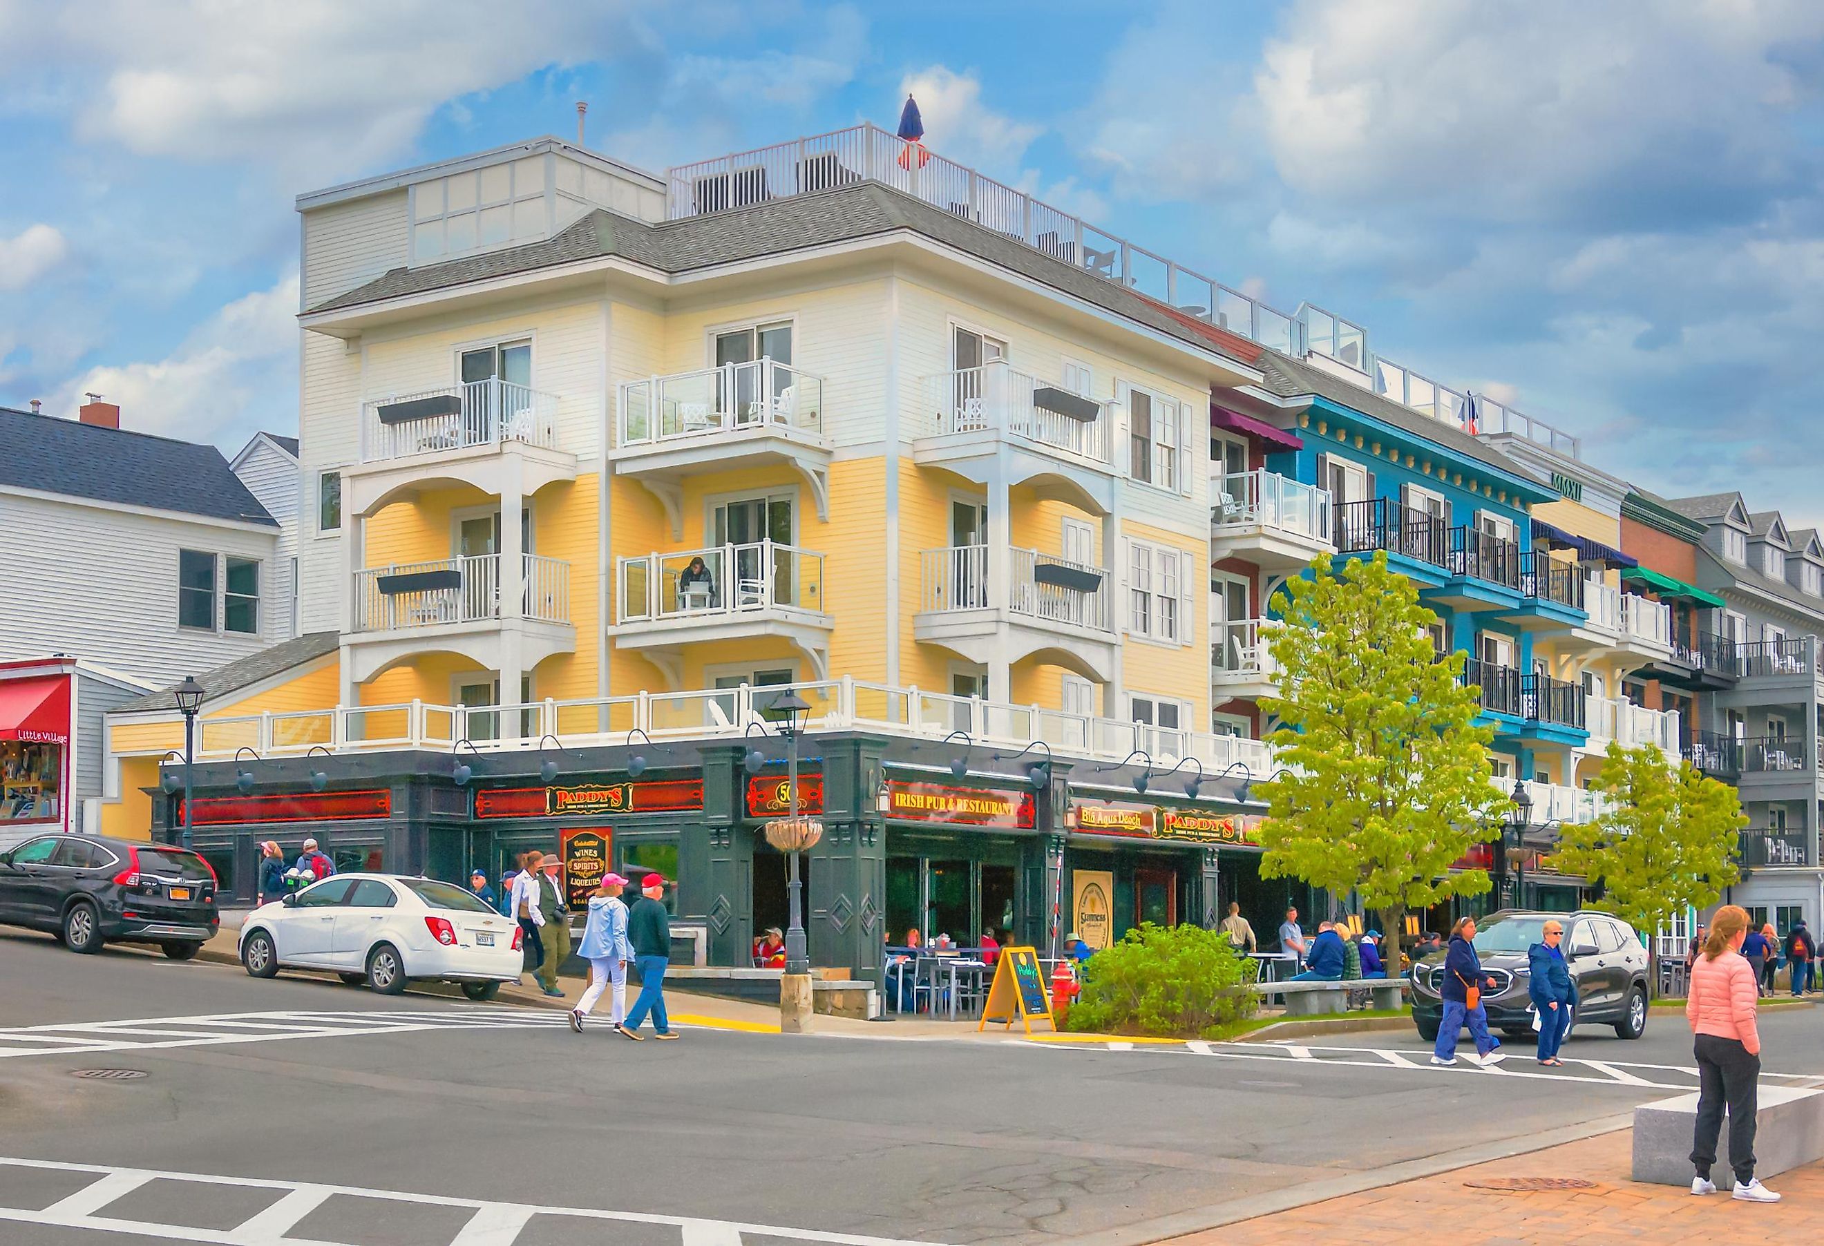
<instances>
[{"instance_id":1,"label":"white siding wall of left house, around its dark double window","mask_svg":"<svg viewBox=\"0 0 1824 1246\"><path fill-rule=\"evenodd\" d=\"M279 542L275 531L18 496L0 498L0 527L18 558L7 566L0 591L0 657L67 653L162 686L270 642L264 635L179 628L177 551L261 558L264 598ZM38 566L26 562L26 551L33 551ZM270 609L261 600L261 626L268 620Z\"/></svg>"}]
</instances>

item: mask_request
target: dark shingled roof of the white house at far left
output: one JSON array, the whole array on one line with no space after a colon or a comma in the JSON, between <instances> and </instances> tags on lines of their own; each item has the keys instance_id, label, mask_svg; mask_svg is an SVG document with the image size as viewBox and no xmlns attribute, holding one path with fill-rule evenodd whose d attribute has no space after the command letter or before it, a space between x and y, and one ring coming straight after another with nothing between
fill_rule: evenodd
<instances>
[{"instance_id":1,"label":"dark shingled roof of the white house at far left","mask_svg":"<svg viewBox=\"0 0 1824 1246\"><path fill-rule=\"evenodd\" d=\"M213 445L0 407L0 485L277 527Z\"/></svg>"}]
</instances>

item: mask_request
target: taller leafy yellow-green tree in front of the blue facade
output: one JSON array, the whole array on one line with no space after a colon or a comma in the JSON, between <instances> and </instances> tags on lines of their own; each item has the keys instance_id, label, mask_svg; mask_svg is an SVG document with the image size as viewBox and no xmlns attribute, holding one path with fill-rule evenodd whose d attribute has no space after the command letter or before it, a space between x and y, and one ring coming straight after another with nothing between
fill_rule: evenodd
<instances>
[{"instance_id":1,"label":"taller leafy yellow-green tree in front of the blue facade","mask_svg":"<svg viewBox=\"0 0 1824 1246\"><path fill-rule=\"evenodd\" d=\"M1434 649L1437 615L1417 587L1384 553L1341 573L1326 555L1273 606L1279 695L1260 704L1280 721L1270 739L1291 770L1260 788L1260 874L1355 890L1395 936L1408 909L1487 892L1487 872L1450 867L1499 834L1494 732L1476 726L1465 655Z\"/></svg>"}]
</instances>

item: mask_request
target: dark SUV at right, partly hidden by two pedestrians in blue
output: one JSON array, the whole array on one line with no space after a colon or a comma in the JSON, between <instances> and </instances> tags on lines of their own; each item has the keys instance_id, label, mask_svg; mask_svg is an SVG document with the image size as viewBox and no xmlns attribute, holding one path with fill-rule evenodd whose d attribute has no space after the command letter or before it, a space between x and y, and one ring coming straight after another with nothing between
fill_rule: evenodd
<instances>
[{"instance_id":1,"label":"dark SUV at right, partly hidden by two pedestrians in blue","mask_svg":"<svg viewBox=\"0 0 1824 1246\"><path fill-rule=\"evenodd\" d=\"M1532 1002L1527 998L1527 949L1545 941L1545 923L1561 921L1565 938L1558 945L1578 983L1576 1025L1614 1025L1618 1038L1640 1038L1647 1029L1647 949L1620 918L1607 912L1492 912L1476 921L1476 960L1483 978L1483 1007L1488 1029L1510 1038L1532 1036ZM1437 1042L1445 1002L1445 952L1432 952L1412 967L1412 1020L1419 1038Z\"/></svg>"}]
</instances>

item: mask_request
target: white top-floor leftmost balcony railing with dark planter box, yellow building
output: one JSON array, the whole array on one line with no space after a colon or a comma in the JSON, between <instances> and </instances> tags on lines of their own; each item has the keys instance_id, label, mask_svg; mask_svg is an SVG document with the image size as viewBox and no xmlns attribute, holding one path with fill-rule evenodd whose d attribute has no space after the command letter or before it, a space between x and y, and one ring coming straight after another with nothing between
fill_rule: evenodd
<instances>
[{"instance_id":1,"label":"white top-floor leftmost balcony railing with dark planter box, yellow building","mask_svg":"<svg viewBox=\"0 0 1824 1246\"><path fill-rule=\"evenodd\" d=\"M498 376L367 403L361 462L520 441L558 449L558 398Z\"/></svg>"}]
</instances>

